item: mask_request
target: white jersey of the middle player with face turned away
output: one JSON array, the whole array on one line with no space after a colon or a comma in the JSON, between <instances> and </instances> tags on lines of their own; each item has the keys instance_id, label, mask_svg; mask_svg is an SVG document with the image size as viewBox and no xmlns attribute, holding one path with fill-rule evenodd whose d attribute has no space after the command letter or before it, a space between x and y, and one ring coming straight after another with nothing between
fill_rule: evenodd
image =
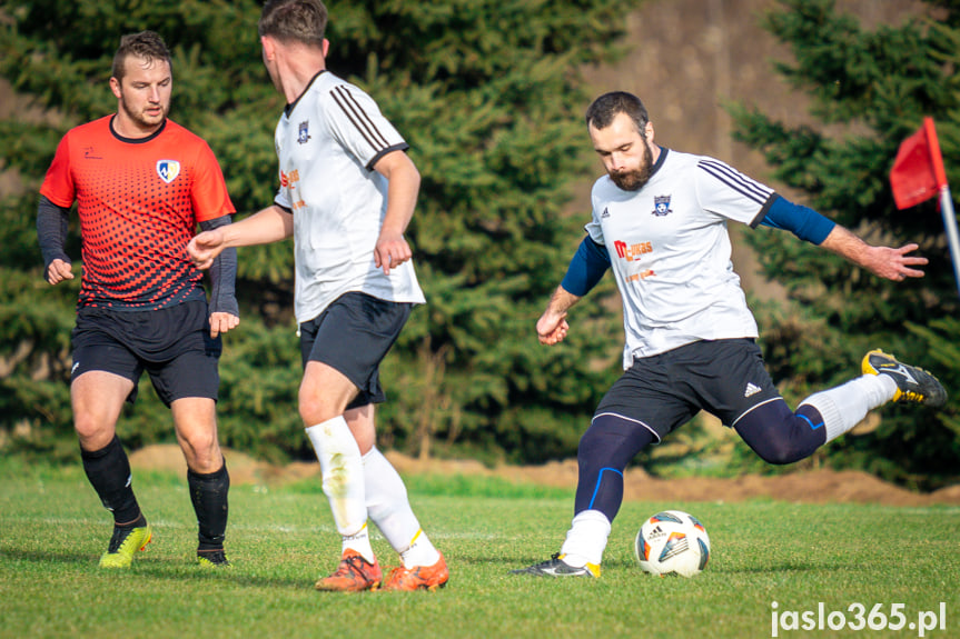
<instances>
[{"instance_id":1,"label":"white jersey of the middle player with face turned away","mask_svg":"<svg viewBox=\"0 0 960 639\"><path fill-rule=\"evenodd\" d=\"M349 291L423 303L412 261L385 276L374 248L387 210L387 180L374 170L407 143L357 87L318 73L287 106L275 143L280 189L275 202L294 213L298 322L319 316Z\"/></svg>"}]
</instances>

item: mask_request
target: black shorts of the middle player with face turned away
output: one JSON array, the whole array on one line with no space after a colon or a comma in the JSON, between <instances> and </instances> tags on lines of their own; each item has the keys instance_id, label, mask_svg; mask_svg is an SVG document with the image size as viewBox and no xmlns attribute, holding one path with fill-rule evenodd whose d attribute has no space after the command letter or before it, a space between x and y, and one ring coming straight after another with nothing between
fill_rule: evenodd
<instances>
[{"instance_id":1,"label":"black shorts of the middle player with face turned away","mask_svg":"<svg viewBox=\"0 0 960 639\"><path fill-rule=\"evenodd\" d=\"M319 361L354 382L359 395L348 409L386 401L380 362L397 341L412 309L408 302L386 301L362 292L344 293L319 317L300 325L304 367L308 361Z\"/></svg>"}]
</instances>

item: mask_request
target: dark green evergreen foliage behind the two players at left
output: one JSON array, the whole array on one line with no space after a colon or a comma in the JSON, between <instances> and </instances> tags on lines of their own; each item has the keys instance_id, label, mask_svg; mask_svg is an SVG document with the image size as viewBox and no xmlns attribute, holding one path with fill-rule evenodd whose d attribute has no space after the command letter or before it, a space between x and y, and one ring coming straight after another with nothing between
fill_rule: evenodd
<instances>
[{"instance_id":1,"label":"dark green evergreen foliage behind the two players at left","mask_svg":"<svg viewBox=\"0 0 960 639\"><path fill-rule=\"evenodd\" d=\"M584 309L563 351L538 347L533 326L582 237L583 216L564 214L568 184L592 173L580 70L617 54L637 3L328 3L328 67L377 99L423 174L408 234L428 303L385 363L394 391L380 416L386 445L524 461L574 452L616 373L617 318ZM72 437L57 436L71 432L66 382L78 280L56 288L42 280L33 227L57 141L112 112L107 81L119 38L151 29L174 52L171 117L208 140L238 211L267 206L283 102L263 69L258 16L254 0L0 6L0 76L22 102L0 120L0 169L23 183L0 202L0 433L20 433L18 446L73 450ZM76 234L73 220L75 271ZM300 456L293 250L240 249L239 262L243 320L221 360L222 438L273 459ZM586 352L595 356L567 355ZM171 440L168 415L141 383L121 426L126 441Z\"/></svg>"}]
</instances>

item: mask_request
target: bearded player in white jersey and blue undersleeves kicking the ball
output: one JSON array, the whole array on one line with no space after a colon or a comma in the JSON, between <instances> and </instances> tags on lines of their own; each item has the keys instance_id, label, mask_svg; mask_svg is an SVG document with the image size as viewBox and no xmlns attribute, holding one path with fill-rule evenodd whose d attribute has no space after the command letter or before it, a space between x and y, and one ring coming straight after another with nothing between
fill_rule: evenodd
<instances>
[{"instance_id":1,"label":"bearded player in white jersey and blue undersleeves kicking the ball","mask_svg":"<svg viewBox=\"0 0 960 639\"><path fill-rule=\"evenodd\" d=\"M933 376L873 350L862 376L791 411L754 341L726 221L790 230L893 281L923 276L914 267L927 259L909 254L917 244L870 246L719 160L659 147L646 109L631 93L597 98L586 124L607 174L593 187L587 237L536 331L541 343L563 341L567 311L611 268L623 298L625 372L580 441L574 518L561 551L518 575L600 577L626 465L700 410L734 428L765 461L791 463L890 400L947 401Z\"/></svg>"}]
</instances>

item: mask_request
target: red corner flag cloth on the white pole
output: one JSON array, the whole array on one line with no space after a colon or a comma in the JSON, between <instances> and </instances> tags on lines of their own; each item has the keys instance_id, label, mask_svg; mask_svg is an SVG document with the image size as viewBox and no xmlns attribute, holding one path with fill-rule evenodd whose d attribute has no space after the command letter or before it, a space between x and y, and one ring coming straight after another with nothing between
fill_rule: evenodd
<instances>
[{"instance_id":1,"label":"red corner flag cloth on the white pole","mask_svg":"<svg viewBox=\"0 0 960 639\"><path fill-rule=\"evenodd\" d=\"M923 127L900 143L890 170L890 186L898 209L926 202L947 186L932 118L923 118Z\"/></svg>"}]
</instances>

